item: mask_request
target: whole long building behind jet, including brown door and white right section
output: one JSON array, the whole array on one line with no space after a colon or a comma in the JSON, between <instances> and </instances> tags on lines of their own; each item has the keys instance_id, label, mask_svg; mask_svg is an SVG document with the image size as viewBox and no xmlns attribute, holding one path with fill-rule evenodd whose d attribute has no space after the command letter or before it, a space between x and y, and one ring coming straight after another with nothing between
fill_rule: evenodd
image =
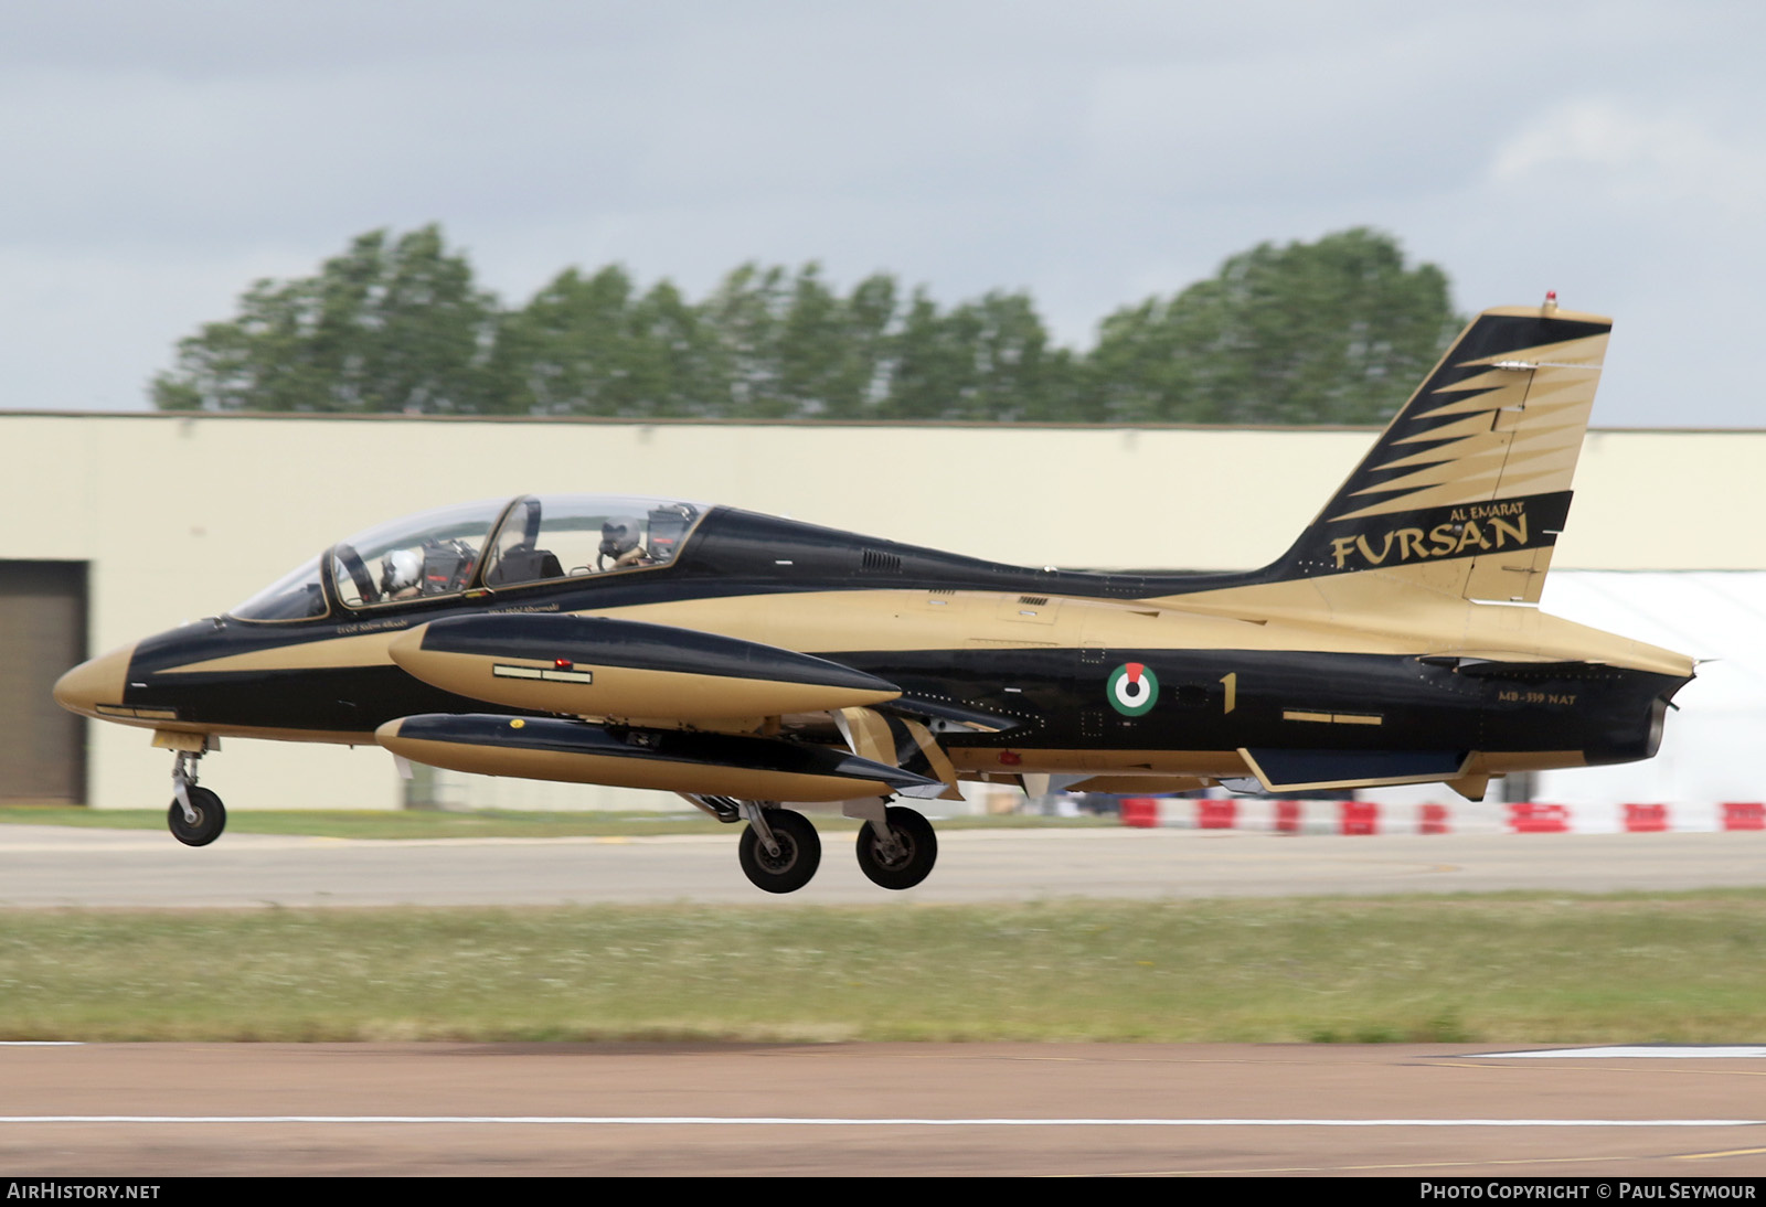
<instances>
[{"instance_id":1,"label":"whole long building behind jet, including brown door and white right section","mask_svg":"<svg viewBox=\"0 0 1766 1207\"><path fill-rule=\"evenodd\" d=\"M171 757L147 731L62 713L48 697L55 676L226 611L332 542L424 508L523 492L664 496L1021 565L1234 570L1280 554L1372 439L1362 427L4 411L0 799L162 806ZM1658 792L1766 799L1748 743L1766 732L1762 466L1766 431L1593 431L1584 443L1545 609L1727 660L1681 692L1649 773L1669 775L1651 780ZM1563 775L1593 785L1611 773ZM452 773L406 783L381 750L231 739L203 778L230 808L657 799Z\"/></svg>"}]
</instances>

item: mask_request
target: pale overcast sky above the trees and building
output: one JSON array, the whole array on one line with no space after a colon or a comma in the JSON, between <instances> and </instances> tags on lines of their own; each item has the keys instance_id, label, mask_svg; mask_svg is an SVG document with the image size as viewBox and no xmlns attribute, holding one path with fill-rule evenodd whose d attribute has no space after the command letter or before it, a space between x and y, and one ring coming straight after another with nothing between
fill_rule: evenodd
<instances>
[{"instance_id":1,"label":"pale overcast sky above the trees and building","mask_svg":"<svg viewBox=\"0 0 1766 1207\"><path fill-rule=\"evenodd\" d=\"M1766 5L9 0L0 408L124 409L263 275L442 222L1030 289L1058 339L1347 226L1618 319L1595 422L1766 424Z\"/></svg>"}]
</instances>

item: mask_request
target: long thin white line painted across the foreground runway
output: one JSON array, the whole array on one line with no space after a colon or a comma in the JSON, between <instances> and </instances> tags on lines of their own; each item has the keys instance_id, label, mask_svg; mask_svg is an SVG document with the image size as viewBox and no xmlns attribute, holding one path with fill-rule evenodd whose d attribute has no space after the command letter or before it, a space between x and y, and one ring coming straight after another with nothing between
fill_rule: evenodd
<instances>
[{"instance_id":1,"label":"long thin white line painted across the foreground runway","mask_svg":"<svg viewBox=\"0 0 1766 1207\"><path fill-rule=\"evenodd\" d=\"M5 1124L517 1124L650 1128L1766 1128L1766 1119L862 1119L802 1115L0 1115Z\"/></svg>"}]
</instances>

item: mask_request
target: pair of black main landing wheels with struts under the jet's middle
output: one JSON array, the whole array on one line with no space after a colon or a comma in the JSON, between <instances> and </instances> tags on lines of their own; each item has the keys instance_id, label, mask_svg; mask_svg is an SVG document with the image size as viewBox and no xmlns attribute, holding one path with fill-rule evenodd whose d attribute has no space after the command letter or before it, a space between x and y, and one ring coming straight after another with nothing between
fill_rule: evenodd
<instances>
[{"instance_id":1,"label":"pair of black main landing wheels with struts under the jet's middle","mask_svg":"<svg viewBox=\"0 0 1766 1207\"><path fill-rule=\"evenodd\" d=\"M756 888L795 893L821 866L821 836L802 813L781 808L777 801L683 796L719 821L747 822L738 856L743 875ZM885 806L883 801L849 803L846 813L865 822L858 828L858 870L872 884L887 889L913 888L932 872L938 863L938 835L925 817L911 808Z\"/></svg>"}]
</instances>

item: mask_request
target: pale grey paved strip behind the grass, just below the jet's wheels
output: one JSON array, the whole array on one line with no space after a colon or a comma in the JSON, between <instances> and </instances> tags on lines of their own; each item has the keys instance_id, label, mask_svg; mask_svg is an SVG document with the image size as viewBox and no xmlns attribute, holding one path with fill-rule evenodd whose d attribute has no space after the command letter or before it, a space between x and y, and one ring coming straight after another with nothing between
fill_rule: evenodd
<instances>
[{"instance_id":1,"label":"pale grey paved strip behind the grass, just below the jet's wheels","mask_svg":"<svg viewBox=\"0 0 1766 1207\"><path fill-rule=\"evenodd\" d=\"M830 831L802 891L758 891L736 833L657 838L360 842L0 826L0 907L834 905L1047 896L1196 898L1766 886L1766 833L1324 836L1190 829L945 829L906 893L858 872Z\"/></svg>"}]
</instances>

